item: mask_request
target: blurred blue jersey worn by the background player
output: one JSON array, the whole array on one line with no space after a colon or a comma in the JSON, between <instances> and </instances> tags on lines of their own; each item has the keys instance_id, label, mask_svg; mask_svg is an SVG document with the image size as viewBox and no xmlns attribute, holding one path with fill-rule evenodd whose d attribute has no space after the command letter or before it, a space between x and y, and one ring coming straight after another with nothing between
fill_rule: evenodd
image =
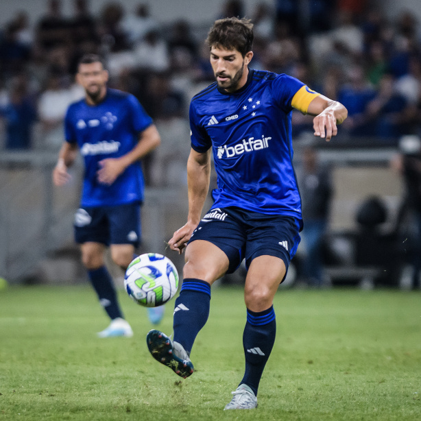
<instances>
[{"instance_id":1,"label":"blurred blue jersey worn by the background player","mask_svg":"<svg viewBox=\"0 0 421 421\"><path fill-rule=\"evenodd\" d=\"M108 89L96 106L82 99L69 106L65 119L66 141L77 142L85 161L82 206L108 206L143 201L141 164L134 163L110 186L97 180L99 161L130 152L152 119L128 93Z\"/></svg>"}]
</instances>

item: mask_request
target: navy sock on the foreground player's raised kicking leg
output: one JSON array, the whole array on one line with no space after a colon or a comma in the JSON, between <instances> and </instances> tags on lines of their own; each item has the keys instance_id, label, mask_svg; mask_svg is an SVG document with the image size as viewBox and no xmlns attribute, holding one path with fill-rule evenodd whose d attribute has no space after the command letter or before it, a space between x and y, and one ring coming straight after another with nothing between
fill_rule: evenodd
<instances>
[{"instance_id":1,"label":"navy sock on the foreground player's raised kicking leg","mask_svg":"<svg viewBox=\"0 0 421 421\"><path fill-rule=\"evenodd\" d=\"M174 341L190 355L197 333L206 324L210 307L210 285L204 280L183 280L174 309Z\"/></svg>"}]
</instances>

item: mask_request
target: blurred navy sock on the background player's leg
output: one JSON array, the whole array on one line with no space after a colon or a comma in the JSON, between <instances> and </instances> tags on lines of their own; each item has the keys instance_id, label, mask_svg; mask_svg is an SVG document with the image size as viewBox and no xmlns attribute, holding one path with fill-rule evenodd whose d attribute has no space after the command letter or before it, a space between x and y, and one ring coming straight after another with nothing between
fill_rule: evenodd
<instances>
[{"instance_id":1,"label":"blurred navy sock on the background player's leg","mask_svg":"<svg viewBox=\"0 0 421 421\"><path fill-rule=\"evenodd\" d=\"M110 319L123 317L119 303L117 302L117 294L115 292L114 283L105 266L98 269L88 270L88 277L91 280L93 289L95 289L99 298L99 303L104 307Z\"/></svg>"}]
</instances>

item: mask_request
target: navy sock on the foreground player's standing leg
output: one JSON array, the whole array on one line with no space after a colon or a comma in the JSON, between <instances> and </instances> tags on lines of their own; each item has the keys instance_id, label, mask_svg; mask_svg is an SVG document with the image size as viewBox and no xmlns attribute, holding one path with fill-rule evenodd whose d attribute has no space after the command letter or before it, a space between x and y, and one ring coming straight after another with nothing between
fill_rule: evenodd
<instances>
[{"instance_id":1,"label":"navy sock on the foreground player's standing leg","mask_svg":"<svg viewBox=\"0 0 421 421\"><path fill-rule=\"evenodd\" d=\"M275 336L274 306L258 313L247 309L247 323L243 333L245 373L241 383L250 386L256 396L258 383L274 347Z\"/></svg>"}]
</instances>

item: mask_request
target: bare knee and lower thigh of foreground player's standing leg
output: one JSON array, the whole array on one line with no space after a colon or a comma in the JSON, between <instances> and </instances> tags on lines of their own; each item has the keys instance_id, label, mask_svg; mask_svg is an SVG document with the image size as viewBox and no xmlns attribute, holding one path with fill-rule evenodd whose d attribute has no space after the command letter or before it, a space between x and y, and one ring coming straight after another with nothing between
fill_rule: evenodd
<instances>
[{"instance_id":1,"label":"bare knee and lower thigh of foreground player's standing leg","mask_svg":"<svg viewBox=\"0 0 421 421\"><path fill-rule=\"evenodd\" d=\"M276 256L258 256L252 260L245 278L244 300L251 311L264 311L272 306L274 296L287 269Z\"/></svg>"}]
</instances>

